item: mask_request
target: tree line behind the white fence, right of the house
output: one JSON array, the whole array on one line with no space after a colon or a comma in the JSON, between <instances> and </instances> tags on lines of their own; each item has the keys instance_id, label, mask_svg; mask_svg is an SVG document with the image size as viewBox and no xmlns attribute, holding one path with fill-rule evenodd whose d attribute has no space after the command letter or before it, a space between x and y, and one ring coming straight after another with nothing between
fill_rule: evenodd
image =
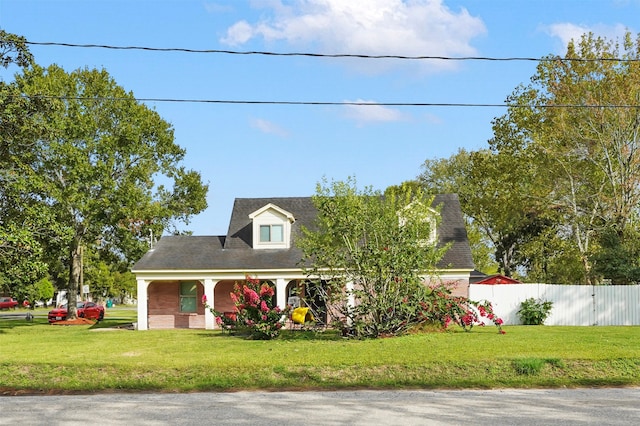
<instances>
[{"instance_id":1,"label":"tree line behind the white fence, right of the house","mask_svg":"<svg viewBox=\"0 0 640 426\"><path fill-rule=\"evenodd\" d=\"M488 147L429 159L416 179L458 193L478 268L640 282L640 35L583 35L507 104Z\"/></svg>"}]
</instances>

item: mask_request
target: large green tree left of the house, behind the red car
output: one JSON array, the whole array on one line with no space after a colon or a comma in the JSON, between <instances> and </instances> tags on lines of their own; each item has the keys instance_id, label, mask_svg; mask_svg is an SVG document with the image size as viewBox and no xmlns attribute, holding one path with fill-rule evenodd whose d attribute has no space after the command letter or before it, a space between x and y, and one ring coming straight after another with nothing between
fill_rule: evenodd
<instances>
[{"instance_id":1,"label":"large green tree left of the house, behind the red car","mask_svg":"<svg viewBox=\"0 0 640 426\"><path fill-rule=\"evenodd\" d=\"M59 250L67 266L73 318L83 246L136 259L150 232L161 235L206 208L208 188L180 165L185 150L171 125L107 71L35 66L14 87L25 99L52 105L40 117L46 131L16 161L31 200L58 225L48 249Z\"/></svg>"}]
</instances>

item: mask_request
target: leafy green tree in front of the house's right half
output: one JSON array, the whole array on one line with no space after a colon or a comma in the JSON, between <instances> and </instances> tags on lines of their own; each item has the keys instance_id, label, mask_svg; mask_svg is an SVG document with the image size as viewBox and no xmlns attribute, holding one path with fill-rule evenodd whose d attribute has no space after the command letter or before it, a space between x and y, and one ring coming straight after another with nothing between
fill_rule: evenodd
<instances>
[{"instance_id":1,"label":"leafy green tree in front of the house's right half","mask_svg":"<svg viewBox=\"0 0 640 426\"><path fill-rule=\"evenodd\" d=\"M310 278L322 278L332 316L344 318L344 331L356 336L406 331L425 300L425 275L446 249L432 239L432 198L409 187L384 195L359 190L350 179L319 184L313 200L317 222L296 244Z\"/></svg>"}]
</instances>

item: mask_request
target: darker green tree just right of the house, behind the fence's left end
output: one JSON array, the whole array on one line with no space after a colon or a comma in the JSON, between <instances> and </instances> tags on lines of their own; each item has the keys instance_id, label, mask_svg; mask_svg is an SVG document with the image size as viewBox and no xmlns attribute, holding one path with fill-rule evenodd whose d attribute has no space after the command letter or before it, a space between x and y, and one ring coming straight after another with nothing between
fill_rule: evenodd
<instances>
[{"instance_id":1,"label":"darker green tree just right of the house, behind the fence's left end","mask_svg":"<svg viewBox=\"0 0 640 426\"><path fill-rule=\"evenodd\" d=\"M514 156L489 149L461 149L449 158L426 160L418 176L429 193L458 194L474 262L486 273L496 267L507 275L525 273L537 255L533 242L549 226L548 212L535 203L535 177L519 164Z\"/></svg>"}]
</instances>

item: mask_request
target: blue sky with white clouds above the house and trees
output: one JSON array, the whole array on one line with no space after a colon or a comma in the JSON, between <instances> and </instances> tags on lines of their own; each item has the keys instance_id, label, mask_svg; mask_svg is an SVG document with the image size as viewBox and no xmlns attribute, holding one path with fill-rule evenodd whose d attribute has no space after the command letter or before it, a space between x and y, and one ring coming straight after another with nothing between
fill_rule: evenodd
<instances>
[{"instance_id":1,"label":"blue sky with white clouds above the house and trees","mask_svg":"<svg viewBox=\"0 0 640 426\"><path fill-rule=\"evenodd\" d=\"M542 57L586 31L640 32L640 0L0 0L0 28L33 42L405 56ZM226 234L236 197L308 196L323 177L383 190L426 159L487 146L495 107L535 62L272 57L32 46L41 65L105 68L146 102L210 185L185 228ZM7 79L4 76L5 80Z\"/></svg>"}]
</instances>

